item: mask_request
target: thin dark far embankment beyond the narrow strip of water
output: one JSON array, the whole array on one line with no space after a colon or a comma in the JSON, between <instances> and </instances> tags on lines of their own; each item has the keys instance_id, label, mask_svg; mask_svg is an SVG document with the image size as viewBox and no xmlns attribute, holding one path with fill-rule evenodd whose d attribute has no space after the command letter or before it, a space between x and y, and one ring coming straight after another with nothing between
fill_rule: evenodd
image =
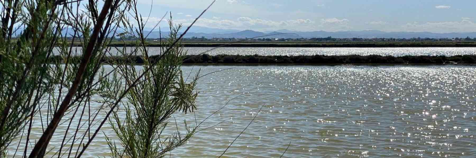
<instances>
[{"instance_id":1,"label":"thin dark far embankment beyond the narrow strip of water","mask_svg":"<svg viewBox=\"0 0 476 158\"><path fill-rule=\"evenodd\" d=\"M183 41L185 47L476 47L476 42L197 42ZM224 46L225 45L225 46ZM81 44L73 44L81 46ZM134 46L133 41L111 42L109 46ZM159 42L147 46L159 47Z\"/></svg>"}]
</instances>

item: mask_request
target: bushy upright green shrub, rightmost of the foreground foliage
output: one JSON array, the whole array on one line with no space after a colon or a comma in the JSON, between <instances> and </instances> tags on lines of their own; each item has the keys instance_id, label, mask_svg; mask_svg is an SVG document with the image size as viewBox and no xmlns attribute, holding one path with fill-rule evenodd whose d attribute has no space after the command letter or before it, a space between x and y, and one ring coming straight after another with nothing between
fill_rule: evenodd
<instances>
[{"instance_id":1,"label":"bushy upright green shrub, rightmost of the foreground foliage","mask_svg":"<svg viewBox=\"0 0 476 158\"><path fill-rule=\"evenodd\" d=\"M144 25L140 25L139 29L143 27ZM197 108L195 99L198 95L194 92L198 74L189 83L184 80L180 65L185 52L179 44L173 45L181 25L173 26L170 19L169 27L167 40L161 41L164 47L161 48L159 60L149 59L146 38L138 31L136 49L129 54L141 56L143 67L138 69L133 66L134 60L122 63L115 61L118 73L128 86L132 86L139 74L143 73L144 77L127 93L125 106L114 111L109 120L120 141L118 146L115 140L105 134L112 158L161 158L172 149L183 145L197 132L198 126L189 127L184 121L185 133L177 130L167 137L163 136L174 112L193 112ZM130 26L125 28L134 30ZM122 34L122 37L125 35L134 36L133 33L127 33ZM122 51L121 54L124 56L128 53ZM144 71L146 69L150 71ZM126 117L120 117L119 112L125 113ZM177 123L175 125L177 126Z\"/></svg>"}]
</instances>

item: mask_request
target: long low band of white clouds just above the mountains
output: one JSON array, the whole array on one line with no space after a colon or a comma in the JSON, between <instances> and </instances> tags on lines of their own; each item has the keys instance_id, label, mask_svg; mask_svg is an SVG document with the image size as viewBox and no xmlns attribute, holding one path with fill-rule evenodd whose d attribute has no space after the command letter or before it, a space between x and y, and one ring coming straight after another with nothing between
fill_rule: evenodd
<instances>
[{"instance_id":1,"label":"long low band of white clouds just above the mountains","mask_svg":"<svg viewBox=\"0 0 476 158\"><path fill-rule=\"evenodd\" d=\"M147 17L144 17L147 18ZM150 17L149 25L155 25L160 18ZM182 23L184 26L190 25L193 18L188 19L174 19L175 23ZM161 26L166 26L167 22L162 21ZM396 25L392 28L383 28L382 26L388 25L385 21L371 21L367 24L378 27L376 29L383 31L409 31L409 32L436 32L436 33L449 33L449 32L476 32L476 23L469 19L462 19L460 21L443 21L443 22L411 22L407 24ZM376 25L373 25L376 24ZM378 25L377 25L378 24ZM293 29L301 31L345 31L355 30L349 24L348 19L321 19L320 21L313 21L310 19L292 19L292 20L267 20L267 19L254 19L249 17L240 17L238 19L223 19L215 18L202 18L198 19L196 26L208 27L208 28L228 28L228 29L252 29L256 31L270 31L278 29ZM365 28L368 29L368 28Z\"/></svg>"}]
</instances>

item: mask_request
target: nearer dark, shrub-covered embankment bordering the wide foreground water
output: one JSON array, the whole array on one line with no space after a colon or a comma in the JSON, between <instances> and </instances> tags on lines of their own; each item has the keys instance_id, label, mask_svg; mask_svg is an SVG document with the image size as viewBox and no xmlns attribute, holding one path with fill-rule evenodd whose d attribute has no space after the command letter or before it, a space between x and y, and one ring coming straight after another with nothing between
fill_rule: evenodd
<instances>
[{"instance_id":1,"label":"nearer dark, shrub-covered embankment bordering the wide foreground water","mask_svg":"<svg viewBox=\"0 0 476 158\"><path fill-rule=\"evenodd\" d=\"M53 57L61 60L60 56ZM150 56L151 60L159 56ZM104 57L102 62L111 60L129 61L142 64L141 56ZM476 55L459 56L259 56L259 55L188 55L184 58L184 64L476 64Z\"/></svg>"}]
</instances>

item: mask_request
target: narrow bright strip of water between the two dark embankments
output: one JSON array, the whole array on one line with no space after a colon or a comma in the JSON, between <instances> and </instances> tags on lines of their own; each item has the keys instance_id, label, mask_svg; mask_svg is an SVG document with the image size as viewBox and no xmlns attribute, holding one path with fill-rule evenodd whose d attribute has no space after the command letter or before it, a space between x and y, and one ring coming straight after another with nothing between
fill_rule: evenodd
<instances>
[{"instance_id":1,"label":"narrow bright strip of water between the two dark embankments","mask_svg":"<svg viewBox=\"0 0 476 158\"><path fill-rule=\"evenodd\" d=\"M80 50L80 47L78 51ZM185 47L189 55L203 53L213 47ZM129 51L129 49L128 49ZM111 54L116 55L117 50L112 48ZM476 47L387 47L387 48L300 48L300 47L220 47L208 52L209 55L281 55L281 56L298 56L298 55L381 55L381 56L455 56L455 55L475 55ZM58 51L55 50L55 54ZM159 47L149 47L149 55L158 55Z\"/></svg>"}]
</instances>

